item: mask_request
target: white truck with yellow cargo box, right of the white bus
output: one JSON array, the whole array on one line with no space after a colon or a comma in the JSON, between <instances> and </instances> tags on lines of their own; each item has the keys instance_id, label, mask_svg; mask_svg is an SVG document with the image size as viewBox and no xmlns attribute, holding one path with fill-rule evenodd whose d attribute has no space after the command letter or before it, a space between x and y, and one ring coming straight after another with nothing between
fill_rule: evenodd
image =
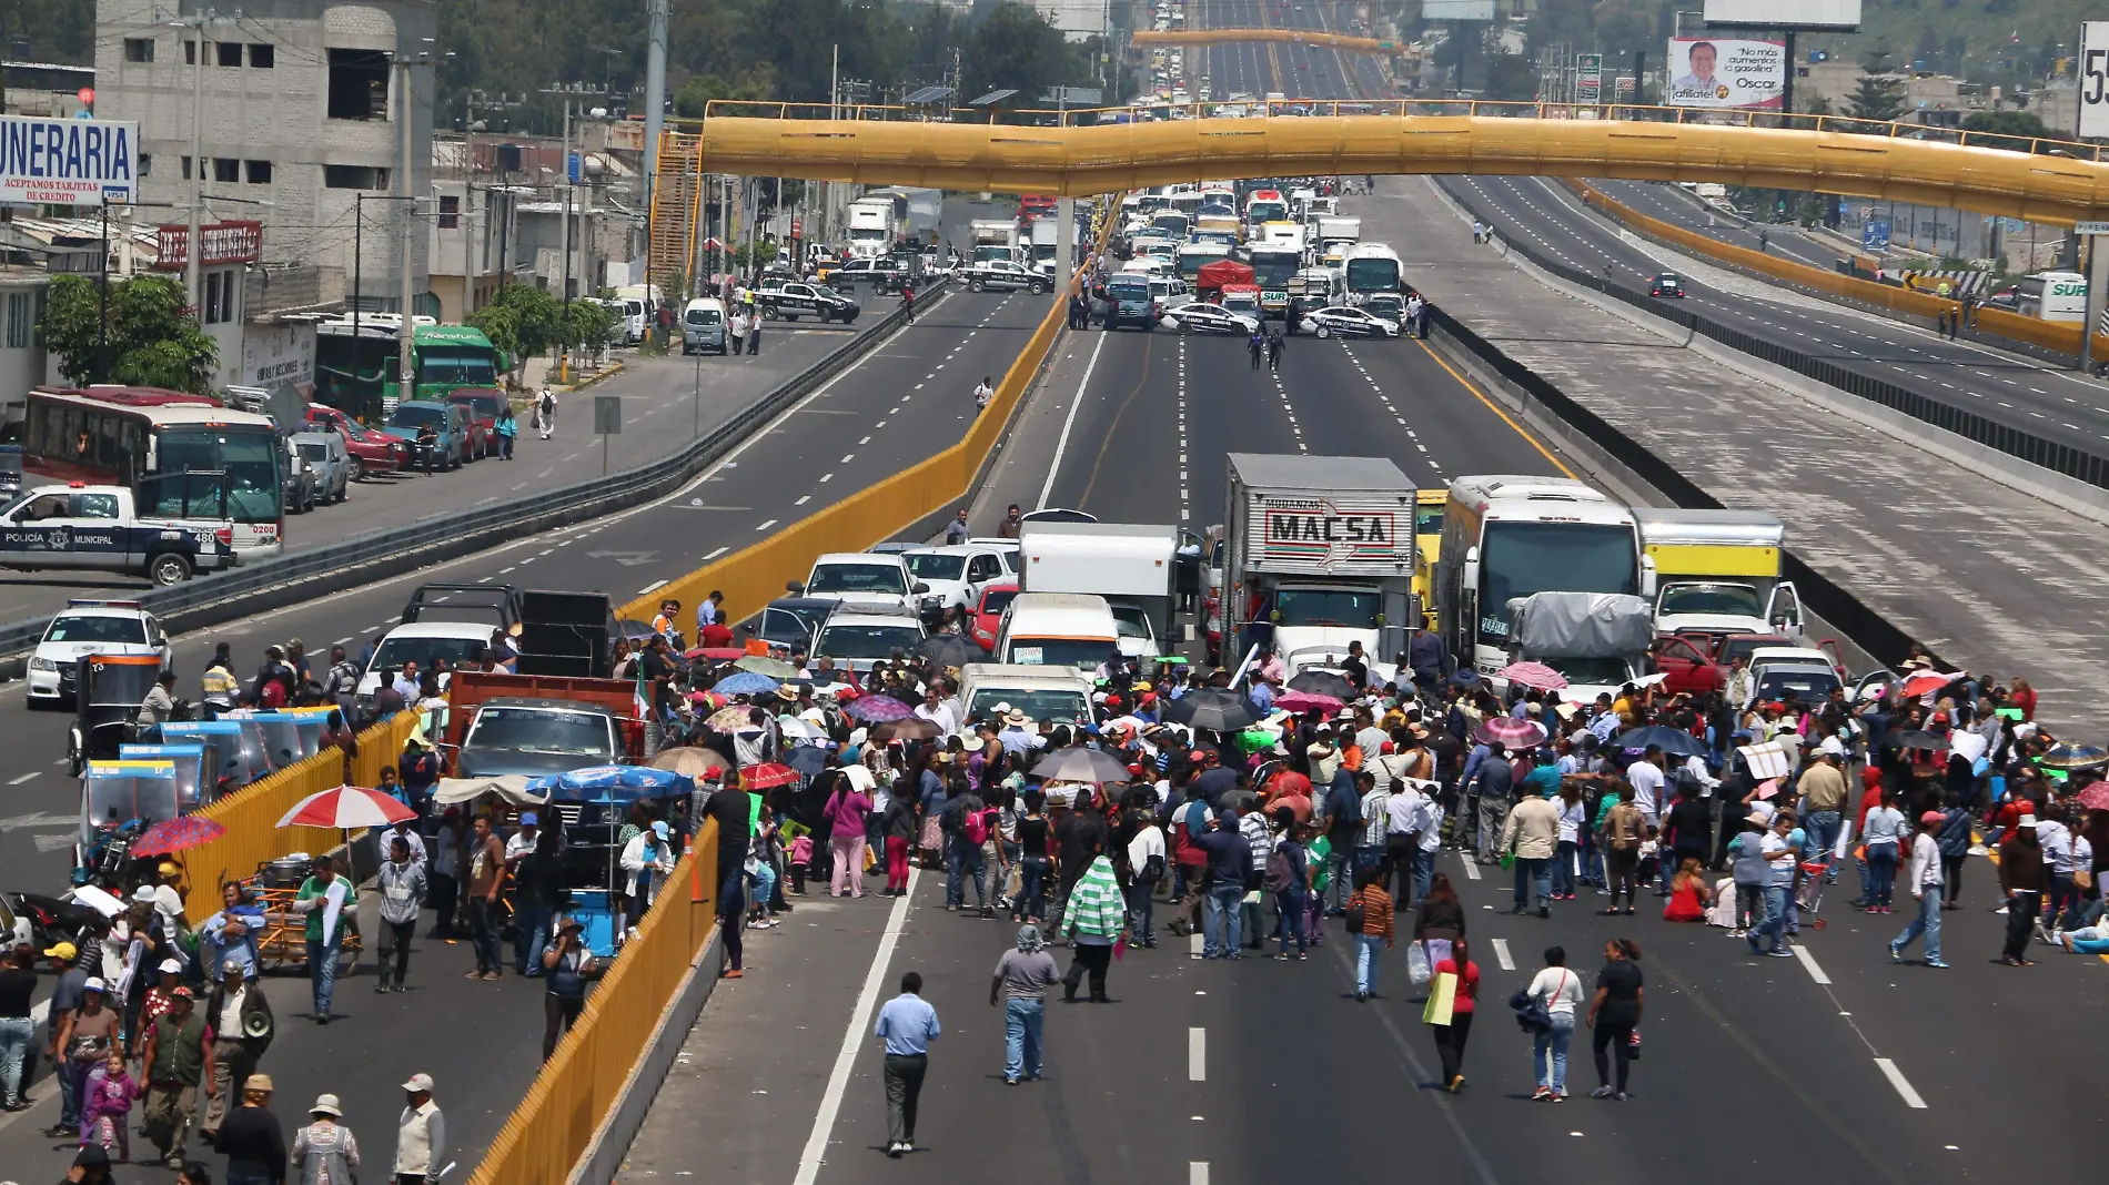
<instances>
[{"instance_id":1,"label":"white truck with yellow cargo box, right of the white bus","mask_svg":"<svg viewBox=\"0 0 2109 1185\"><path fill-rule=\"evenodd\" d=\"M1801 597L1780 580L1786 525L1763 510L1632 512L1656 567L1656 633L1801 630Z\"/></svg>"}]
</instances>

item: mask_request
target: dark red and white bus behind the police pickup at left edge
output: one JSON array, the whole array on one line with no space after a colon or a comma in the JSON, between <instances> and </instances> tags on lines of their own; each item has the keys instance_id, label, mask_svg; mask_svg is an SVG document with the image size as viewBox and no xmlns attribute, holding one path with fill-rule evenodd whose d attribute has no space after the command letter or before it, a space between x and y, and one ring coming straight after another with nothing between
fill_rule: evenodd
<instances>
[{"instance_id":1,"label":"dark red and white bus behind the police pickup at left edge","mask_svg":"<svg viewBox=\"0 0 2109 1185\"><path fill-rule=\"evenodd\" d=\"M226 512L245 561L285 548L285 447L270 415L152 386L34 388L21 428L23 483L32 479L124 485L143 514L181 517L190 483L152 481L181 472L226 474ZM217 514L217 491L211 491Z\"/></svg>"}]
</instances>

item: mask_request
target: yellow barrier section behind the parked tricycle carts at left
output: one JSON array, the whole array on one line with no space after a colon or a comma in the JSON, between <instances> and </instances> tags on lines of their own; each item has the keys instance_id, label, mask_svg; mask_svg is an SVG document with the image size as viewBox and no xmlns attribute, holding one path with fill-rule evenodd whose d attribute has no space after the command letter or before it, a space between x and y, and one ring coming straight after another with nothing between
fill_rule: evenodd
<instances>
[{"instance_id":1,"label":"yellow barrier section behind the parked tricycle carts at left","mask_svg":"<svg viewBox=\"0 0 2109 1185\"><path fill-rule=\"evenodd\" d=\"M380 784L382 765L394 765L396 755L403 753L403 742L409 740L415 725L415 713L396 713L361 732L350 784ZM202 818L224 824L228 833L211 843L177 854L177 862L183 867L183 883L190 886L183 913L192 921L211 917L219 911L219 886L226 881L249 877L259 865L291 856L293 852L329 852L344 843L344 833L329 827L278 827L278 820L285 818L285 812L293 810L293 803L344 782L344 753L331 749L287 765L276 774L257 778L196 812Z\"/></svg>"}]
</instances>

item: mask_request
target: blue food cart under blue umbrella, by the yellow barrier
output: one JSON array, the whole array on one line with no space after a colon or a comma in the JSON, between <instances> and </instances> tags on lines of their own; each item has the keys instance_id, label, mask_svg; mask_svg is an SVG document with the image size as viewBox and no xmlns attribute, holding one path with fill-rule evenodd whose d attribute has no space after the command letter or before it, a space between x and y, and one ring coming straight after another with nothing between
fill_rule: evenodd
<instances>
[{"instance_id":1,"label":"blue food cart under blue umbrella, by the yellow barrier","mask_svg":"<svg viewBox=\"0 0 2109 1185\"><path fill-rule=\"evenodd\" d=\"M544 799L563 824L563 879L569 915L584 926L584 943L595 955L614 955L622 932L622 846L616 835L637 801L685 805L696 782L671 770L645 765L595 765L553 778L536 778L527 793ZM669 812L673 805L669 805ZM669 820L681 835L679 820Z\"/></svg>"}]
</instances>

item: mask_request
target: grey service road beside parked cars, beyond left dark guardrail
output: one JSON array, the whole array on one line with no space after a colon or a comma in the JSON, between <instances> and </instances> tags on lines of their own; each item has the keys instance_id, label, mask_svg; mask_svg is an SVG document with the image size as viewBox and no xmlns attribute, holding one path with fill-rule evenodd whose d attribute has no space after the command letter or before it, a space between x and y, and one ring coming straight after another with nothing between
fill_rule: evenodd
<instances>
[{"instance_id":1,"label":"grey service road beside parked cars, beyond left dark guardrail","mask_svg":"<svg viewBox=\"0 0 2109 1185\"><path fill-rule=\"evenodd\" d=\"M352 485L350 498L316 506L308 514L287 514L291 550L325 548L352 536L401 527L420 519L453 514L487 502L531 498L601 474L601 439L591 434L593 396L622 399L628 432L610 436L607 468L622 470L658 460L694 436L732 420L763 392L814 365L856 333L869 331L892 299L873 306L873 316L854 325L772 323L761 335L761 354L664 358L631 354L624 371L584 392L559 396L555 441L536 436L521 420L510 462L496 458L464 464L453 472L378 474ZM21 571L0 576L0 622L55 614L70 597L122 597L148 590L146 580L112 574Z\"/></svg>"}]
</instances>

